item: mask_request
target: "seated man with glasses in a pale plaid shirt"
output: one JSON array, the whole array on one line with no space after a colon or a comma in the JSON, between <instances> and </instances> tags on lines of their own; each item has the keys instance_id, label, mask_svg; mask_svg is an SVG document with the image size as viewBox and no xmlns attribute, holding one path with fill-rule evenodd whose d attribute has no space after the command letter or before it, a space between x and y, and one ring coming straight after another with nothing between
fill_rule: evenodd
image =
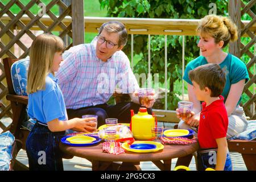
<instances>
[{"instance_id":1,"label":"seated man with glasses in a pale plaid shirt","mask_svg":"<svg viewBox=\"0 0 256 182\"><path fill-rule=\"evenodd\" d=\"M130 110L139 109L138 82L131 71L130 61L122 50L127 42L127 31L121 22L102 24L96 41L71 47L63 53L64 61L56 73L63 92L69 119L85 114L98 115L98 126L106 118L130 122ZM132 102L108 105L109 98L119 86L129 94ZM151 106L154 104L152 102ZM152 109L148 109L152 113Z\"/></svg>"}]
</instances>

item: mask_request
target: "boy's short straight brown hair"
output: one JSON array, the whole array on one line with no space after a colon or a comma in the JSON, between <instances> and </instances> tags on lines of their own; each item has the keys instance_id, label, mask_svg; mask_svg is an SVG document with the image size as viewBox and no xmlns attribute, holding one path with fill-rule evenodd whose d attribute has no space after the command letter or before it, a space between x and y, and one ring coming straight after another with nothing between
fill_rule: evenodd
<instances>
[{"instance_id":1,"label":"boy's short straight brown hair","mask_svg":"<svg viewBox=\"0 0 256 182\"><path fill-rule=\"evenodd\" d=\"M199 84L203 90L208 87L211 91L210 97L221 95L226 84L226 73L218 64L204 64L189 72L189 79Z\"/></svg>"}]
</instances>

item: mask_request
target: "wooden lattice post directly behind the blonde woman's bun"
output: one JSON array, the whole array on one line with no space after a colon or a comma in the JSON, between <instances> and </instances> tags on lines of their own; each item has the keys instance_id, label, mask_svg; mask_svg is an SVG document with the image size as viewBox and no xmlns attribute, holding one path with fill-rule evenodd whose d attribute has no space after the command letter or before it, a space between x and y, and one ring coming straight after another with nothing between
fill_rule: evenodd
<instances>
[{"instance_id":1,"label":"wooden lattice post directly behind the blonde woman's bun","mask_svg":"<svg viewBox=\"0 0 256 182\"><path fill-rule=\"evenodd\" d=\"M230 42L229 53L241 57L241 0L229 0L229 16L234 21L238 29L238 39L236 42Z\"/></svg>"}]
</instances>

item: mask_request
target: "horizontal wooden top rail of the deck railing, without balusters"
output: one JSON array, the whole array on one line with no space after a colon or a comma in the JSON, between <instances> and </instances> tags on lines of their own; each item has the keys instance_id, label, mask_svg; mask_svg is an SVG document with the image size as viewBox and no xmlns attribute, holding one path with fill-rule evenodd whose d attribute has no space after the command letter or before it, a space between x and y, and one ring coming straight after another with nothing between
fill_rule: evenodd
<instances>
[{"instance_id":1,"label":"horizontal wooden top rail of the deck railing, without balusters","mask_svg":"<svg viewBox=\"0 0 256 182\"><path fill-rule=\"evenodd\" d=\"M58 18L58 16L56 16ZM11 18L8 15L3 15L1 20L10 21ZM27 15L23 15L20 20L26 26L31 19ZM156 19L156 18L108 18L108 17L84 17L85 32L98 32L102 23L110 20L118 20L125 24L128 34L142 34L142 35L196 35L196 27L199 23L199 19ZM48 15L44 15L40 18L40 21L45 26L51 26L53 20ZM62 22L68 26L72 22L71 16L65 16ZM250 20L242 20L242 23L250 23ZM19 27L18 27L19 28ZM36 24L30 28L30 30L42 30ZM56 26L52 31L62 31L63 28ZM249 28L251 32L256 35L256 23ZM247 36L244 34L243 36Z\"/></svg>"}]
</instances>

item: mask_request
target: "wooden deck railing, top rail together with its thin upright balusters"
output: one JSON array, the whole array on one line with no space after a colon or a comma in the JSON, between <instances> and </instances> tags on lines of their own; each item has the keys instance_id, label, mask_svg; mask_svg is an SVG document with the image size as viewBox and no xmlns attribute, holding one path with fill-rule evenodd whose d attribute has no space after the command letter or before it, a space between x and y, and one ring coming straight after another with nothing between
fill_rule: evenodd
<instances>
[{"instance_id":1,"label":"wooden deck railing, top rail together with its thin upright balusters","mask_svg":"<svg viewBox=\"0 0 256 182\"><path fill-rule=\"evenodd\" d=\"M58 17L56 17L58 18ZM11 18L7 15L3 15L2 20L10 21ZM131 66L133 67L133 35L134 34L143 34L148 35L148 41L150 41L151 35L166 35L166 42L167 42L167 35L180 35L183 36L183 49L184 49L184 39L185 36L195 36L196 35L196 27L199 23L199 19L151 19L151 18L98 18L98 17L84 17L84 26L85 26L85 32L98 32L98 29L100 28L102 23L108 22L110 20L118 20L125 24L126 29L129 34L131 34ZM30 18L28 16L23 15L22 18L20 18L20 21L24 23L26 26L30 22ZM53 23L53 20L48 15L44 15L40 21L47 27L51 26ZM65 24L65 26L68 26L68 24L71 24L72 18L70 16L66 16L62 23ZM250 23L249 20L243 20L242 21L245 26ZM18 27L17 27L18 28ZM39 26L36 24L30 28L30 30L41 30ZM251 32L254 32L254 35L256 34L256 24L254 23L253 26L249 28ZM63 27L55 26L52 31L63 31ZM247 36L247 34L243 34L243 36ZM165 47L167 49L167 46ZM183 74L184 74L184 51L183 51ZM167 56L164 57L165 63L167 65ZM150 63L150 54L148 56L148 62ZM150 73L150 64L148 64L148 72ZM165 69L165 73L167 76L167 67ZM165 80L165 105L164 110L154 110L156 115L161 121L167 121L167 122L179 122L179 120L176 118L176 112L167 110L167 77ZM184 96L184 82L183 82L183 90L182 90L183 96ZM254 95L255 96L255 95Z\"/></svg>"}]
</instances>

